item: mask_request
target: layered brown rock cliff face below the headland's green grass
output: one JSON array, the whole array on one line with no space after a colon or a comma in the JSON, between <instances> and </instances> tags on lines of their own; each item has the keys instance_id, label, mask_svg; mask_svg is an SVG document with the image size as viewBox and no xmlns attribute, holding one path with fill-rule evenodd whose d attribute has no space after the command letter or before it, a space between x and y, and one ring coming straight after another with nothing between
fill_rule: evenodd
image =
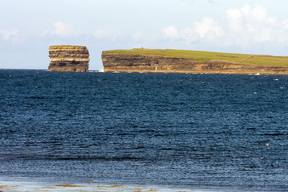
<instances>
[{"instance_id":1,"label":"layered brown rock cliff face below the headland's green grass","mask_svg":"<svg viewBox=\"0 0 288 192\"><path fill-rule=\"evenodd\" d=\"M198 61L146 54L102 52L105 72L226 73L288 75L288 68L228 60Z\"/></svg>"}]
</instances>

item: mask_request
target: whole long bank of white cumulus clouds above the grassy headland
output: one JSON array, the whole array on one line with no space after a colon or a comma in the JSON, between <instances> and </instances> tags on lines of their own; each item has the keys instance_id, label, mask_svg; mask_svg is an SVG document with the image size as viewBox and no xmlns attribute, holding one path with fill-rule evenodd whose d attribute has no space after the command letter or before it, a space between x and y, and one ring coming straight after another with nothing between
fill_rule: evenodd
<instances>
[{"instance_id":1,"label":"whole long bank of white cumulus clouds above the grassy headland","mask_svg":"<svg viewBox=\"0 0 288 192\"><path fill-rule=\"evenodd\" d=\"M281 44L288 40L288 19L281 21L269 16L262 5L227 9L226 18L228 28L225 31L213 18L204 17L187 28L177 29L171 25L162 28L162 32L166 39L173 41L181 37L187 45L200 41L223 47L245 47L266 42Z\"/></svg>"}]
</instances>

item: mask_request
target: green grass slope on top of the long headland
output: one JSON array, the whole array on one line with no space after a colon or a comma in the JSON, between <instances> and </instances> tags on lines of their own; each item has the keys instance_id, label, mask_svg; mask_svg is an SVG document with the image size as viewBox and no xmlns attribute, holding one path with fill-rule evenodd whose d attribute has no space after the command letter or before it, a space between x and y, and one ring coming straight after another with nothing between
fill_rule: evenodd
<instances>
[{"instance_id":1,"label":"green grass slope on top of the long headland","mask_svg":"<svg viewBox=\"0 0 288 192\"><path fill-rule=\"evenodd\" d=\"M192 58L198 61L208 60L228 60L245 62L251 64L269 64L277 66L288 66L287 56L270 56L270 55L253 55L253 54L235 54L235 53L219 53L206 51L189 51L189 50L173 50L173 49L131 49L131 50L109 50L105 52L116 52L119 54L151 54L177 58Z\"/></svg>"}]
</instances>

